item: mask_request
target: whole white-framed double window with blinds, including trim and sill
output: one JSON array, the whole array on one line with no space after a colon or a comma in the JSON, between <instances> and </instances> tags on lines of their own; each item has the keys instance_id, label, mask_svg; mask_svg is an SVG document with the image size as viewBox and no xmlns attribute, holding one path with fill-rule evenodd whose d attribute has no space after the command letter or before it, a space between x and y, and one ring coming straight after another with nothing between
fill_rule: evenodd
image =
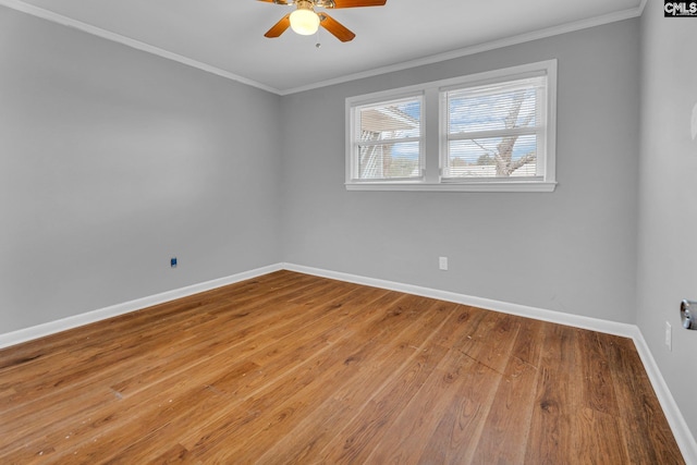
<instances>
[{"instance_id":1,"label":"whole white-framed double window with blinds, including trim and sill","mask_svg":"<svg viewBox=\"0 0 697 465\"><path fill-rule=\"evenodd\" d=\"M346 188L551 192L555 87L551 60L348 98Z\"/></svg>"}]
</instances>

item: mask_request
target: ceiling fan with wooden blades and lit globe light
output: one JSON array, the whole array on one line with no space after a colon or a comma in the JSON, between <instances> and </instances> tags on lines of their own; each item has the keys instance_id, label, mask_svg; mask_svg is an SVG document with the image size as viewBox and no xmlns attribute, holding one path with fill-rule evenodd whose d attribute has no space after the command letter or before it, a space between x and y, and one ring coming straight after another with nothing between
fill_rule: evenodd
<instances>
[{"instance_id":1,"label":"ceiling fan with wooden blades and lit globe light","mask_svg":"<svg viewBox=\"0 0 697 465\"><path fill-rule=\"evenodd\" d=\"M295 10L276 23L264 36L279 37L289 27L293 32L309 36L317 32L319 26L329 30L342 42L353 40L356 35L344 25L325 12L317 13L315 8L358 8L358 7L382 7L387 0L258 0L276 4L294 4Z\"/></svg>"}]
</instances>

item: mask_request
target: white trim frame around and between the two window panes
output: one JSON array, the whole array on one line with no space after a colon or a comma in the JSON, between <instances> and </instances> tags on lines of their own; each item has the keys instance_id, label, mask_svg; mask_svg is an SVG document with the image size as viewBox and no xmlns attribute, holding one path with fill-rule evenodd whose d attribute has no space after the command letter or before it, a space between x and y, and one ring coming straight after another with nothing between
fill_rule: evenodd
<instances>
[{"instance_id":1,"label":"white trim frame around and between the two window panes","mask_svg":"<svg viewBox=\"0 0 697 465\"><path fill-rule=\"evenodd\" d=\"M546 73L548 76L547 94L547 133L545 140L545 176L542 179L481 179L458 180L441 179L441 149L444 143L441 93L465 86L492 84ZM424 175L413 180L355 180L354 142L352 122L354 108L381 101L395 100L409 96L423 95L421 108L421 162ZM557 60L511 66L502 70L470 74L450 79L436 81L415 86L402 87L350 97L345 102L345 186L347 191L426 191L426 192L553 192L557 187Z\"/></svg>"}]
</instances>

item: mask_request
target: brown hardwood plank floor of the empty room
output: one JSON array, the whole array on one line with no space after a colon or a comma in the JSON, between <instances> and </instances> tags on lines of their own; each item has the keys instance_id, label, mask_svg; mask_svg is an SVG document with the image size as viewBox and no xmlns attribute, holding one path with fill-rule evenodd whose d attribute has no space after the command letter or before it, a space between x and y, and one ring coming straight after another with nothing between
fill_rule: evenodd
<instances>
[{"instance_id":1,"label":"brown hardwood plank floor of the empty room","mask_svg":"<svg viewBox=\"0 0 697 465\"><path fill-rule=\"evenodd\" d=\"M631 340L280 271L0 351L0 463L684 463Z\"/></svg>"}]
</instances>

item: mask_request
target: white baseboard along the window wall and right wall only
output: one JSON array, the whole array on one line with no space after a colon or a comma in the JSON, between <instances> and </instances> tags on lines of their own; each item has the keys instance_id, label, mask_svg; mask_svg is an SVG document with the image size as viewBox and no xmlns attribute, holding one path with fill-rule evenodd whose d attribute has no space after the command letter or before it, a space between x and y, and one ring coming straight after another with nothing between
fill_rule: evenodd
<instances>
[{"instance_id":1,"label":"white baseboard along the window wall and right wall only","mask_svg":"<svg viewBox=\"0 0 697 465\"><path fill-rule=\"evenodd\" d=\"M697 465L697 441L692 435L685 417L680 412L677 403L671 394L661 370L659 369L651 351L646 344L646 340L639 328L635 325L620 323L615 321L607 321L598 318L589 318L579 315L564 314L561 311L546 310L525 305L511 304L508 302L493 301L489 298L474 297L470 295L457 294L448 291L439 291L429 287L421 287L412 284L403 284L393 281L384 281L374 278L366 278L356 274L348 274L339 271L329 271L318 268L305 267L302 265L283 264L283 268L299 273L314 274L322 278L335 279L356 284L370 285L374 287L388 289L391 291L404 292L407 294L421 295L424 297L438 298L441 301L454 302L457 304L470 305L473 307L485 308L489 310L501 311L510 315L517 315L526 318L533 318L542 321L549 321L558 325L565 325L575 328L583 328L592 331L603 332L608 334L631 338L641 358L644 368L651 381L651 386L656 391L656 396L663 408L665 418L673 431L675 441L683 454L683 458L688 465Z\"/></svg>"}]
</instances>

